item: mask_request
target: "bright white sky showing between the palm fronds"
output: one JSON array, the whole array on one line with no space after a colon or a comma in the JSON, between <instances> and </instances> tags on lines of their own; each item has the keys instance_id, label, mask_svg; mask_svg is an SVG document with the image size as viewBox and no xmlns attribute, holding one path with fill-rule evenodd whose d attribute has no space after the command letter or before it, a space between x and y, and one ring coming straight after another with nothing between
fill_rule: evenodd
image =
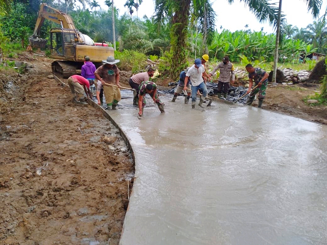
<instances>
[{"instance_id":1,"label":"bright white sky showing between the palm fronds","mask_svg":"<svg viewBox=\"0 0 327 245\"><path fill-rule=\"evenodd\" d=\"M271 0L269 0L271 1ZM114 0L114 5L118 8L119 15L123 15L127 8L124 7L125 0ZM260 31L264 27L263 31L266 33L275 33L275 30L269 26L268 23L259 23L254 14L252 14L248 7L244 6L244 3L240 3L238 0L234 0L232 5L228 4L227 0L212 0L212 8L215 10L216 16L216 29L220 32L220 26L222 29L230 30L234 32L236 30L251 29L252 31ZM271 2L278 2L277 0ZM99 2L100 4L100 2ZM322 7L320 10L320 16L325 13L327 6L327 0L322 0ZM276 6L278 7L278 5ZM102 7L108 8L108 7ZM133 8L133 16L136 16L136 10ZM286 15L287 24L297 26L299 29L305 28L308 24L313 23L311 13L308 13L306 4L303 0L284 0L282 2L282 11ZM142 19L144 15L148 18L154 14L154 0L143 0L138 10L138 16ZM245 25L248 24L248 28Z\"/></svg>"}]
</instances>

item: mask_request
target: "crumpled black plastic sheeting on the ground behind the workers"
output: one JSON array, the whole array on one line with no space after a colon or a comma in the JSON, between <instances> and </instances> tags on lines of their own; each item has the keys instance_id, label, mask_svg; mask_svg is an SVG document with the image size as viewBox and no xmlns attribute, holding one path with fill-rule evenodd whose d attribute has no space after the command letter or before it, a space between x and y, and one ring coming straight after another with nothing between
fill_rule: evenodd
<instances>
[{"instance_id":1,"label":"crumpled black plastic sheeting on the ground behind the workers","mask_svg":"<svg viewBox=\"0 0 327 245\"><path fill-rule=\"evenodd\" d=\"M162 93L162 94L163 93L171 93L171 94L174 94L175 93L174 92L175 88L177 86L177 82L171 82L168 85L169 86L175 86L175 87L170 89L170 90L158 91L158 93ZM208 89L208 95L209 96L212 96L214 94L218 94L218 84L217 83L207 82L207 89ZM229 86L229 90L228 90L228 93L227 93L226 100L235 102L236 100L238 100L238 98L240 98L241 96L246 94L247 91L248 91L248 88L245 88L243 86L239 86L239 87ZM200 93L202 93L201 90L200 90ZM184 94L180 94L180 95L184 95ZM237 103L245 104L248 101L248 97L249 97L249 95L244 96ZM221 97L221 99L225 99L225 98Z\"/></svg>"}]
</instances>

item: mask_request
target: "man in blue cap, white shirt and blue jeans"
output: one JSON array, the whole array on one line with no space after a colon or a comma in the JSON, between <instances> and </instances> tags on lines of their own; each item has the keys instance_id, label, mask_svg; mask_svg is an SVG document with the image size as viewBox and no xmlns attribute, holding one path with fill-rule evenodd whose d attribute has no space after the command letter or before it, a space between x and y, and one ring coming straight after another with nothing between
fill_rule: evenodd
<instances>
[{"instance_id":1,"label":"man in blue cap, white shirt and blue jeans","mask_svg":"<svg viewBox=\"0 0 327 245\"><path fill-rule=\"evenodd\" d=\"M200 97L200 103L199 106L203 108L203 101L205 100L205 98L208 95L208 90L207 90L207 86L205 85L203 78L202 78L202 74L204 73L204 66L202 65L201 59L197 58L194 61L194 65L188 69L186 76L185 76L185 80L184 80L184 88L183 90L187 89L187 81L188 78L190 78L191 80L191 84L192 84L192 108L195 108L195 102L197 100L197 92L198 89L202 90L202 95ZM207 106L211 105L211 101L210 103L208 103Z\"/></svg>"}]
</instances>

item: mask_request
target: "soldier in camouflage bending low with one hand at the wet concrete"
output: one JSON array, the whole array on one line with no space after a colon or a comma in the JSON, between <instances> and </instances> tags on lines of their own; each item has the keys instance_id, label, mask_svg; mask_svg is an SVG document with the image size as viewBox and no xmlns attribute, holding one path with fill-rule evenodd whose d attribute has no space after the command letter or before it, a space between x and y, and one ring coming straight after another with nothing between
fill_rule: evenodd
<instances>
[{"instance_id":1,"label":"soldier in camouflage bending low with one hand at the wet concrete","mask_svg":"<svg viewBox=\"0 0 327 245\"><path fill-rule=\"evenodd\" d=\"M163 103L160 101L159 99L159 95L157 93L157 84L155 84L154 82L150 82L150 81L144 81L140 84L139 87L139 114L138 117L143 117L143 110L144 110L144 106L146 105L146 99L145 99L145 95L149 94L151 96L151 98L153 99L153 102L156 103L159 107L160 112L164 112L164 108L163 108Z\"/></svg>"}]
</instances>

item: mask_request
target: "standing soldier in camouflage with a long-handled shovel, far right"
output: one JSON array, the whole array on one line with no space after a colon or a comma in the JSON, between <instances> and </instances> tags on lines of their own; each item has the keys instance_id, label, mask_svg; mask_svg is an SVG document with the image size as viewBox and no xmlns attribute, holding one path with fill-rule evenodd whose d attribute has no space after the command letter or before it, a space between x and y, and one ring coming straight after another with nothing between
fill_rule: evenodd
<instances>
[{"instance_id":1,"label":"standing soldier in camouflage with a long-handled shovel, far right","mask_svg":"<svg viewBox=\"0 0 327 245\"><path fill-rule=\"evenodd\" d=\"M259 92L259 104L258 107L261 108L262 103L265 99L265 95L266 95L266 89L267 89L267 85L268 85L268 76L269 74L261 69L261 68L254 68L251 64L247 64L245 69L248 71L249 73L249 89L247 91L247 93L250 93L250 90L252 88L253 85L253 80L255 82L255 85L259 85L257 88L255 88L254 90L251 91L248 102L246 103L246 105L251 105L255 95Z\"/></svg>"}]
</instances>

